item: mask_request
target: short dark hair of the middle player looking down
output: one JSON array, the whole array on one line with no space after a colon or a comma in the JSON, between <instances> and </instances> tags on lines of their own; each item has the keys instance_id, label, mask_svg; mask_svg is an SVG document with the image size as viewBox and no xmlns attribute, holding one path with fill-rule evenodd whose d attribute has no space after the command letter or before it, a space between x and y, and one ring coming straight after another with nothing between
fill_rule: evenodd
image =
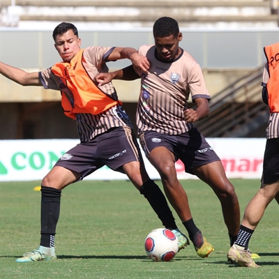
<instances>
[{"instance_id":1,"label":"short dark hair of the middle player looking down","mask_svg":"<svg viewBox=\"0 0 279 279\"><path fill-rule=\"evenodd\" d=\"M153 25L153 36L164 38L179 35L179 24L172 17L160 17Z\"/></svg>"}]
</instances>

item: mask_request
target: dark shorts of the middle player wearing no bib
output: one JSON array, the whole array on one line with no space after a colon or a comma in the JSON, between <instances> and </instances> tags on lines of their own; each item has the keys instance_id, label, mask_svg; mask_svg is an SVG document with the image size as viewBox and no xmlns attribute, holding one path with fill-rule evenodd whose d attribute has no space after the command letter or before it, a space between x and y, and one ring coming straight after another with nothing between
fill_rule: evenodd
<instances>
[{"instance_id":1,"label":"dark shorts of the middle player wearing no bib","mask_svg":"<svg viewBox=\"0 0 279 279\"><path fill-rule=\"evenodd\" d=\"M165 146L174 153L176 161L180 159L183 162L185 172L189 174L193 174L191 170L195 167L220 160L197 128L192 128L189 132L181 135L147 131L140 135L140 144L147 158L149 158L152 149Z\"/></svg>"}]
</instances>

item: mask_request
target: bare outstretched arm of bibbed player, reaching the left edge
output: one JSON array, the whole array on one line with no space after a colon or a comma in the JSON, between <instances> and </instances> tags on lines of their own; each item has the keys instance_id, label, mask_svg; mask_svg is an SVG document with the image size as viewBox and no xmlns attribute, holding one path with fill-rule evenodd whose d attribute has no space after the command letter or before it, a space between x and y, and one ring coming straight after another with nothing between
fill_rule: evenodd
<instances>
[{"instance_id":1,"label":"bare outstretched arm of bibbed player, reaching the left edge","mask_svg":"<svg viewBox=\"0 0 279 279\"><path fill-rule=\"evenodd\" d=\"M15 68L0 62L0 73L9 80L13 80L13 82L17 82L23 86L42 86L38 72L27 73L20 68Z\"/></svg>"}]
</instances>

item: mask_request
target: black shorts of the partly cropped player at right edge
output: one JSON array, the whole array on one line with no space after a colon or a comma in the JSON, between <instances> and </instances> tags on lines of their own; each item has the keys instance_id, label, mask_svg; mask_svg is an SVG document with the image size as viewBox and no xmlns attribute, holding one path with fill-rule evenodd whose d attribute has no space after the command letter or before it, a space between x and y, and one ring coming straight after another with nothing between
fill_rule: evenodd
<instances>
[{"instance_id":1,"label":"black shorts of the partly cropped player at right edge","mask_svg":"<svg viewBox=\"0 0 279 279\"><path fill-rule=\"evenodd\" d=\"M266 140L262 184L272 184L279 180L279 137Z\"/></svg>"}]
</instances>

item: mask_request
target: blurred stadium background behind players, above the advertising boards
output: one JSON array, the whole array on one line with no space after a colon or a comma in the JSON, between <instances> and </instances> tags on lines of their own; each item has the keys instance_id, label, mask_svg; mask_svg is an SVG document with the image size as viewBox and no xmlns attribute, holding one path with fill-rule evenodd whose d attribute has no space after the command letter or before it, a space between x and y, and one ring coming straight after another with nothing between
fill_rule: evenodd
<instances>
[{"instance_id":1,"label":"blurred stadium background behind players, above the advertising boards","mask_svg":"<svg viewBox=\"0 0 279 279\"><path fill-rule=\"evenodd\" d=\"M75 24L82 47L152 44L153 23L174 17L180 46L202 67L211 116L197 123L206 137L265 137L269 108L262 103L263 47L279 41L278 0L0 0L0 60L27 71L60 61L52 31ZM107 63L110 70L129 61ZM135 126L140 82L114 81ZM0 76L0 140L78 137L64 116L59 91L23 87ZM189 104L189 107L193 105Z\"/></svg>"}]
</instances>

